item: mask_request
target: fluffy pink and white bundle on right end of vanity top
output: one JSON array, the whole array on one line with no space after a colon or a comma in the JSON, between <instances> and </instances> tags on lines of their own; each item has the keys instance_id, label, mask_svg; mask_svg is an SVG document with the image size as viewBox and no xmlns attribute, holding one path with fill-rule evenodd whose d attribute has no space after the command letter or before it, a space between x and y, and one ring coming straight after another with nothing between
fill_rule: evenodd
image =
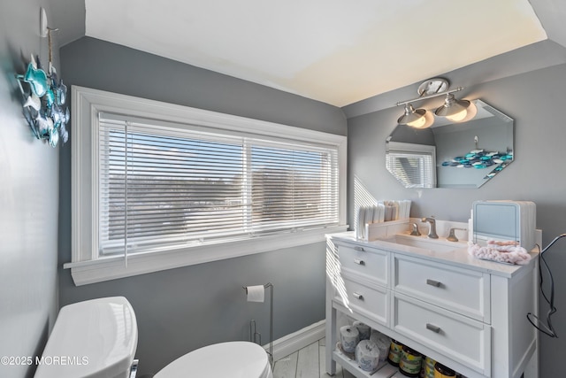
<instances>
[{"instance_id":1,"label":"fluffy pink and white bundle on right end of vanity top","mask_svg":"<svg viewBox=\"0 0 566 378\"><path fill-rule=\"evenodd\" d=\"M497 242L490 240L485 247L468 243L468 253L475 258L497 261L506 264L525 265L531 255L516 242Z\"/></svg>"}]
</instances>

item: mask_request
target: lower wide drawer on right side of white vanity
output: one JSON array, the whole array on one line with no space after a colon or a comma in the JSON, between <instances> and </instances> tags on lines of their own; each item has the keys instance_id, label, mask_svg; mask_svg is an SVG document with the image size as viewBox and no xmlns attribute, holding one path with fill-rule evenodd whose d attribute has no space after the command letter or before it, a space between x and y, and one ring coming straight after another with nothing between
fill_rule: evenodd
<instances>
[{"instance_id":1,"label":"lower wide drawer on right side of white vanity","mask_svg":"<svg viewBox=\"0 0 566 378\"><path fill-rule=\"evenodd\" d=\"M393 328L480 374L491 374L491 327L455 312L394 294Z\"/></svg>"}]
</instances>

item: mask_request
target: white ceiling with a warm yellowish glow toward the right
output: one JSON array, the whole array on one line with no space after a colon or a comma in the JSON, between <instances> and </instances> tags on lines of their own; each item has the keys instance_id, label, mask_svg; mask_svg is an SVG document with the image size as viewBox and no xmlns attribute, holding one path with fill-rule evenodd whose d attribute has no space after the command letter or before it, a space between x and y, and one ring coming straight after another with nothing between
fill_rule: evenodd
<instances>
[{"instance_id":1,"label":"white ceiling with a warm yellowish glow toward the right","mask_svg":"<svg viewBox=\"0 0 566 378\"><path fill-rule=\"evenodd\" d=\"M85 34L336 106L547 39L528 0L85 0Z\"/></svg>"}]
</instances>

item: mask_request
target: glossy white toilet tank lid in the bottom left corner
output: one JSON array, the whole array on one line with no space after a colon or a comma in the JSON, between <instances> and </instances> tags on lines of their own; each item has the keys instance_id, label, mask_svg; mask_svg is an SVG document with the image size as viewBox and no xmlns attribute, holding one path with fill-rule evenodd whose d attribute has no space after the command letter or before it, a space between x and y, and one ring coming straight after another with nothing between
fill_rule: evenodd
<instances>
[{"instance_id":1,"label":"glossy white toilet tank lid in the bottom left corner","mask_svg":"<svg viewBox=\"0 0 566 378\"><path fill-rule=\"evenodd\" d=\"M132 305L103 297L61 308L35 378L113 377L131 366L138 343Z\"/></svg>"}]
</instances>

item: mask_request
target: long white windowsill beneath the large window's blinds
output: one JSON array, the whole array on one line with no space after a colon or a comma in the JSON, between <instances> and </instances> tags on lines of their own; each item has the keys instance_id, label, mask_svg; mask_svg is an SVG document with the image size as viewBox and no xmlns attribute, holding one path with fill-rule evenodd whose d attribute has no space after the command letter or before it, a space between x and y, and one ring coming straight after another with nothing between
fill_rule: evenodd
<instances>
[{"instance_id":1,"label":"long white windowsill beneath the large window's blinds","mask_svg":"<svg viewBox=\"0 0 566 378\"><path fill-rule=\"evenodd\" d=\"M348 226L317 228L286 235L262 236L249 240L188 247L165 252L138 253L123 256L99 258L96 260L66 263L71 269L76 286L104 282L138 274L147 274L181 266L191 266L225 258L276 251L325 241L325 235L346 231Z\"/></svg>"}]
</instances>

